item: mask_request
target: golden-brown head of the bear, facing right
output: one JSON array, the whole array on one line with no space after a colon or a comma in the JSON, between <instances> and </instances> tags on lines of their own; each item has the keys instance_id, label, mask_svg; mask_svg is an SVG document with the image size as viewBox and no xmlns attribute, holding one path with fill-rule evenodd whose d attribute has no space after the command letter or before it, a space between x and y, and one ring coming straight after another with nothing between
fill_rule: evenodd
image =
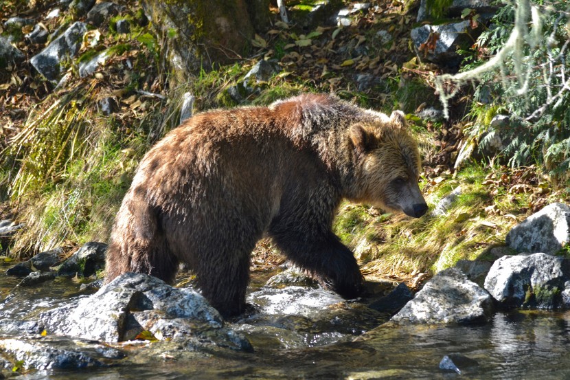
<instances>
[{"instance_id":1,"label":"golden-brown head of the bear, facing right","mask_svg":"<svg viewBox=\"0 0 570 380\"><path fill-rule=\"evenodd\" d=\"M394 111L386 122L353 124L349 136L356 171L354 200L415 218L424 215L428 207L418 186L420 152L404 114Z\"/></svg>"}]
</instances>

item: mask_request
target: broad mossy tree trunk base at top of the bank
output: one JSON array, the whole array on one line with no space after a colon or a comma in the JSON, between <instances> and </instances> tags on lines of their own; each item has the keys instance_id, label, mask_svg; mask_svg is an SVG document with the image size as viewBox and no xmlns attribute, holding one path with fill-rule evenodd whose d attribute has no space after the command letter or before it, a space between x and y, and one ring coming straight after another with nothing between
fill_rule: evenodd
<instances>
[{"instance_id":1,"label":"broad mossy tree trunk base at top of the bank","mask_svg":"<svg viewBox=\"0 0 570 380\"><path fill-rule=\"evenodd\" d=\"M142 0L177 81L249 52L255 26L269 22L269 0ZM265 14L264 14L265 12ZM266 25L266 24L265 24Z\"/></svg>"}]
</instances>

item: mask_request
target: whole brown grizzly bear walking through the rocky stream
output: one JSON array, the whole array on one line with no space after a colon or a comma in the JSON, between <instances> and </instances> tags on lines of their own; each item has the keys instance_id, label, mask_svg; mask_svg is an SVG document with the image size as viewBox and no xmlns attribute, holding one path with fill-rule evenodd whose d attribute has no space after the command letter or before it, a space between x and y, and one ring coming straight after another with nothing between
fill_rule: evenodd
<instances>
[{"instance_id":1,"label":"whole brown grizzly bear walking through the rocky stream","mask_svg":"<svg viewBox=\"0 0 570 380\"><path fill-rule=\"evenodd\" d=\"M305 94L269 107L198 113L141 160L117 214L106 282L172 282L182 262L222 315L244 311L251 251L270 236L344 298L363 276L331 230L343 198L422 216L420 155L403 113Z\"/></svg>"}]
</instances>

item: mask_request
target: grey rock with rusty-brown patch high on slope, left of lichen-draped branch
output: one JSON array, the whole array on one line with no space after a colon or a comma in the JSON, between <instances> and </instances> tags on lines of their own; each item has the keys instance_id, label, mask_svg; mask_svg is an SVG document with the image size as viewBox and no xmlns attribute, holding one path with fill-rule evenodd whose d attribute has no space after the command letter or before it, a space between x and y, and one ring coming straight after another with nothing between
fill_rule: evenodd
<instances>
[{"instance_id":1,"label":"grey rock with rusty-brown patch high on slope, left of lichen-draped branch","mask_svg":"<svg viewBox=\"0 0 570 380\"><path fill-rule=\"evenodd\" d=\"M430 36L437 34L435 49L423 45ZM468 20L440 25L422 25L411 30L416 53L421 60L429 60L445 67L458 67L463 59L457 54L460 47L466 48L481 34L480 28L473 29Z\"/></svg>"}]
</instances>

